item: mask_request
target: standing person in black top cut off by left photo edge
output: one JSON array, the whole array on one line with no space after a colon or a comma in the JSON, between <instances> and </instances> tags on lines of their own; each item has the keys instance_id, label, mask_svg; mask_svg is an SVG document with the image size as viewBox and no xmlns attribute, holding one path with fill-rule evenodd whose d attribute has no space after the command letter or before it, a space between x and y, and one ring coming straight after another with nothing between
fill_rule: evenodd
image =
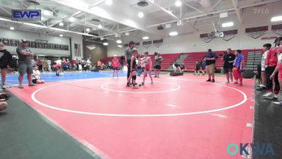
<instances>
[{"instance_id":1,"label":"standing person in black top cut off by left photo edge","mask_svg":"<svg viewBox=\"0 0 282 159\"><path fill-rule=\"evenodd\" d=\"M4 44L0 42L0 69L1 69L1 81L2 89L6 88L6 73L7 69L11 66L12 55L6 49L4 49Z\"/></svg>"}]
</instances>

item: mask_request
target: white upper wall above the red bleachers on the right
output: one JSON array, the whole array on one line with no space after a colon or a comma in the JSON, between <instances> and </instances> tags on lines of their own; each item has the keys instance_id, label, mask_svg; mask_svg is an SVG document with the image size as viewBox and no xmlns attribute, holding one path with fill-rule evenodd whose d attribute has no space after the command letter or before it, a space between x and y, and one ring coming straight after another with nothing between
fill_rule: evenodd
<instances>
[{"instance_id":1,"label":"white upper wall above the red bleachers on the right","mask_svg":"<svg viewBox=\"0 0 282 159\"><path fill-rule=\"evenodd\" d=\"M180 53L180 52L204 52L207 49L211 48L214 51L216 50L225 50L228 47L231 49L259 49L262 48L262 45L265 43L273 43L274 40L261 40L261 37L257 39L253 39L249 37L245 33L245 28L253 28L268 25L269 31L266 34L262 35L262 37L271 37L277 36L275 33L271 31L271 25L279 24L271 23L270 19L273 16L281 16L281 6L282 2L269 4L265 6L259 6L256 8L264 8L269 9L269 13L254 13L254 8L245 8L243 10L243 24L236 25L235 28L228 28L228 30L238 29L238 35L236 35L233 39L226 42L221 39L214 39L209 43L206 43L200 39L201 32L195 32L190 35L178 35L176 37L166 37L164 38L164 43L161 47L157 48L154 45L151 45L148 49L143 47L142 45L138 47L140 53L148 51L149 54L153 52L161 52L162 54L170 54L170 53ZM221 28L223 30L223 28ZM202 32L207 33L207 32ZM125 48L118 48L116 44L109 45L107 56L112 57L114 54L124 54Z\"/></svg>"}]
</instances>

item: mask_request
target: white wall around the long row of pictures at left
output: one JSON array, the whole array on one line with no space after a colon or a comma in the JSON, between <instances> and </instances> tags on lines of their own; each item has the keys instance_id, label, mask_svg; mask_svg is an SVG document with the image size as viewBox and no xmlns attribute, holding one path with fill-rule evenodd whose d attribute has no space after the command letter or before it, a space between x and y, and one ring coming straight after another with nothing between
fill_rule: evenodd
<instances>
[{"instance_id":1,"label":"white wall around the long row of pictures at left","mask_svg":"<svg viewBox=\"0 0 282 159\"><path fill-rule=\"evenodd\" d=\"M39 36L37 33L30 33L30 32L23 32L20 30L9 30L7 28L0 28L0 37L9 38L9 39L16 39L16 40L48 40L49 43L56 43L60 45L68 45L69 50L56 50L56 49L37 49L37 48L30 48L32 52L35 54L42 54L42 55L51 55L51 56L70 56L71 54L71 47L70 47L70 40L69 37L57 37L57 36L50 36L44 35L42 37ZM11 53L16 53L16 47L5 46Z\"/></svg>"}]
</instances>

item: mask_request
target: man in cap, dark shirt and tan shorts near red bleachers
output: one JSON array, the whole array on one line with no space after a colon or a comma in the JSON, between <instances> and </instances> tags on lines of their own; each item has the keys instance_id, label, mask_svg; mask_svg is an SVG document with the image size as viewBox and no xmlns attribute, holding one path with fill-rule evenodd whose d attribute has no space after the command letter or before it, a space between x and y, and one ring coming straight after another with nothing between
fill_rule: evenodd
<instances>
[{"instance_id":1,"label":"man in cap, dark shirt and tan shorts near red bleachers","mask_svg":"<svg viewBox=\"0 0 282 159\"><path fill-rule=\"evenodd\" d=\"M207 54L204 57L207 65L207 73L209 75L209 79L207 82L214 82L214 71L216 69L216 53L212 52L212 49L207 49Z\"/></svg>"}]
</instances>

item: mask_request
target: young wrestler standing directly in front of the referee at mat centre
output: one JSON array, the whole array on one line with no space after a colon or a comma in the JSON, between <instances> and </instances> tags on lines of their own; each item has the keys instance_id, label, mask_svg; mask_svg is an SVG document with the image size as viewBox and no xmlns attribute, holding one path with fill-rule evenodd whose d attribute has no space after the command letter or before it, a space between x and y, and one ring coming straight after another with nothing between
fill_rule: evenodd
<instances>
[{"instance_id":1,"label":"young wrestler standing directly in front of the referee at mat centre","mask_svg":"<svg viewBox=\"0 0 282 159\"><path fill-rule=\"evenodd\" d=\"M133 48L133 55L130 60L130 76L128 78L127 86L130 87L130 80L133 79L133 88L138 88L138 85L136 83L136 57L137 57L137 49Z\"/></svg>"}]
</instances>

